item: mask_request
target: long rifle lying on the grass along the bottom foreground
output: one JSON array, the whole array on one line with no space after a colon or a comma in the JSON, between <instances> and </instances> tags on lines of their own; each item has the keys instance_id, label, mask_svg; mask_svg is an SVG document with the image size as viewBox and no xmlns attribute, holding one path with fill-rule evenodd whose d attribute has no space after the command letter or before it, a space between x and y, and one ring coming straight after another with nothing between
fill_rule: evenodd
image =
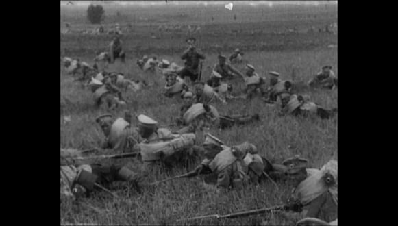
<instances>
[{"instance_id":1,"label":"long rifle lying on the grass along the bottom foreground","mask_svg":"<svg viewBox=\"0 0 398 226\"><path fill-rule=\"evenodd\" d=\"M180 219L177 221L188 221L188 220L197 220L197 219L203 219L203 218L212 218L215 217L217 219L221 218L236 218L240 216L249 216L252 214L263 214L263 213L268 213L272 211L286 211L290 210L289 205L277 205L271 208L262 208L262 209L257 209L257 210L247 210L247 211L241 211L241 212L235 212L232 214L226 214L226 215L219 215L219 214L212 214L212 215L207 215L207 216L195 216L191 218L185 218L185 219Z\"/></svg>"}]
</instances>

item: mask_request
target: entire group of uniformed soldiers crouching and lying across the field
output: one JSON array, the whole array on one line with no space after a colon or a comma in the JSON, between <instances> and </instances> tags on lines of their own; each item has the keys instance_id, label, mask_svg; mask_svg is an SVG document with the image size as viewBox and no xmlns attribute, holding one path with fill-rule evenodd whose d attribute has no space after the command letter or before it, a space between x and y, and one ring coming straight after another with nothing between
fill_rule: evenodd
<instances>
[{"instance_id":1,"label":"entire group of uniformed soldiers crouching and lying across the field","mask_svg":"<svg viewBox=\"0 0 398 226\"><path fill-rule=\"evenodd\" d=\"M224 105L235 99L249 101L260 95L266 104L280 100L279 115L319 116L332 118L337 108L325 109L310 101L307 95L292 92L293 81L280 79L280 73L269 72L265 77L256 73L255 66L246 64L244 73L232 64L242 64L243 53L236 49L227 58L219 54L207 81L202 81L203 60L206 59L200 49L195 47L195 38L188 38L188 48L182 53L184 66L158 60L144 55L137 60L142 71L161 72L166 82L163 95L177 97L183 101L178 116L175 117L176 130L158 127L158 122L145 114L133 117L128 111L119 118L112 114L97 117L95 122L105 137L100 150L108 149L113 155L100 155L98 158L132 158L139 160L140 170L133 170L128 165L112 164L77 164L74 160L86 160L82 152L73 149L61 149L61 194L77 198L89 195L96 189L110 192L107 188L113 181L126 181L138 192L158 186L162 181L150 182L148 175L151 168L187 167L188 162L202 159L192 171L181 177L216 174L216 184L210 186L216 192L242 190L248 184L271 181L288 183L295 188L286 201L284 216L298 225L337 223L337 161L329 160L320 169L310 168L309 161L299 156L288 158L281 163L271 163L260 153L260 147L250 142L225 144L216 136L206 132L210 127L227 129L234 125L246 125L260 122L258 114L220 115L212 103L219 101ZM117 58L125 62L120 36L115 36L108 52L98 53L93 66L80 60L64 58L66 70L80 77L77 79L90 87L95 105L106 103L110 110L129 103L122 95L122 90L134 91L144 87L144 82L125 78L123 73L99 71L97 63L112 64ZM229 62L227 62L227 59ZM245 83L243 95L232 95L230 79L242 79ZM268 84L267 84L268 83ZM140 86L141 84L141 86ZM309 82L309 86L333 90L337 78L332 66L323 66ZM198 136L204 142L198 144ZM108 156L108 157L107 157ZM94 156L95 157L95 156Z\"/></svg>"}]
</instances>

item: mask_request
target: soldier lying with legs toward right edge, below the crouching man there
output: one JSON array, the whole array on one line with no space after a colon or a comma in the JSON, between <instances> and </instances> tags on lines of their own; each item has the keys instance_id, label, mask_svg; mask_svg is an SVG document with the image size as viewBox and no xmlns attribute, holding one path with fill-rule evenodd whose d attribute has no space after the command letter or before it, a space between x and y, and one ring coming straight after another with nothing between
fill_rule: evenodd
<instances>
[{"instance_id":1,"label":"soldier lying with legs toward right edge, below the crouching man there","mask_svg":"<svg viewBox=\"0 0 398 226\"><path fill-rule=\"evenodd\" d=\"M280 116L292 114L293 116L310 116L316 115L322 119L332 118L337 114L337 108L328 110L322 108L314 102L306 100L301 95L291 95L289 92L280 94L282 108L279 112Z\"/></svg>"}]
</instances>

